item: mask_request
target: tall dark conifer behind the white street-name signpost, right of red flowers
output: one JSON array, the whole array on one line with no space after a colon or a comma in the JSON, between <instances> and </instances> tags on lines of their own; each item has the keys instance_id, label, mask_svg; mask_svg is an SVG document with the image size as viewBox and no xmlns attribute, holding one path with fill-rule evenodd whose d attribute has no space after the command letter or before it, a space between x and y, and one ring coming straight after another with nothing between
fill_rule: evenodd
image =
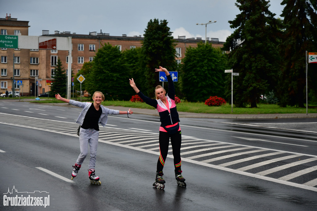
<instances>
[{"instance_id":1,"label":"tall dark conifer behind the white street-name signpost, right of red flowers","mask_svg":"<svg viewBox=\"0 0 317 211\"><path fill-rule=\"evenodd\" d=\"M237 0L241 11L230 28L236 30L227 38L223 50L230 50L230 64L235 77L234 104L244 107L256 103L261 94L271 91L277 81L277 50L281 22L268 10L269 1ZM230 78L231 80L231 78Z\"/></svg>"}]
</instances>

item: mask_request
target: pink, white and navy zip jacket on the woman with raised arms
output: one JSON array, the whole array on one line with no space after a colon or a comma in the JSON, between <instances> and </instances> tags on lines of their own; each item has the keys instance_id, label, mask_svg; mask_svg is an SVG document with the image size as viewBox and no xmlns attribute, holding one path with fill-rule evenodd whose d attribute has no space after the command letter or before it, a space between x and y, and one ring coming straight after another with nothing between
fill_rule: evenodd
<instances>
[{"instance_id":1,"label":"pink, white and navy zip jacket on the woman with raised arms","mask_svg":"<svg viewBox=\"0 0 317 211\"><path fill-rule=\"evenodd\" d=\"M166 95L166 99L168 101L169 109L165 106L162 100L149 98L142 92L138 93L140 98L142 98L146 104L153 106L159 112L161 127L174 125L179 122L178 112L175 104L175 88L171 75L167 76L167 81L168 94Z\"/></svg>"}]
</instances>

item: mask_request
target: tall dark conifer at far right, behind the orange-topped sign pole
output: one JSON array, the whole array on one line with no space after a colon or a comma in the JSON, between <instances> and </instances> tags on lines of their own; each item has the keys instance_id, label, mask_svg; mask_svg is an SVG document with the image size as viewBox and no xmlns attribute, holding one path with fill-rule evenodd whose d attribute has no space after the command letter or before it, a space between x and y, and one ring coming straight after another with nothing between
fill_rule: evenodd
<instances>
[{"instance_id":1,"label":"tall dark conifer at far right, behind the orange-topped sign pole","mask_svg":"<svg viewBox=\"0 0 317 211\"><path fill-rule=\"evenodd\" d=\"M283 0L281 16L285 25L280 46L283 67L278 95L280 105L304 107L306 92L306 51L317 50L317 0Z\"/></svg>"}]
</instances>

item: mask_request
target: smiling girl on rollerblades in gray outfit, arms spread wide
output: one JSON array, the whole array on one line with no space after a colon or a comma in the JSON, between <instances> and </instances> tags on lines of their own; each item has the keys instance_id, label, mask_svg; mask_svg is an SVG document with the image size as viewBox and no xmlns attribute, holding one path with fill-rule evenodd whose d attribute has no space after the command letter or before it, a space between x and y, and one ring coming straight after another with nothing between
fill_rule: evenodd
<instances>
[{"instance_id":1,"label":"smiling girl on rollerblades in gray outfit, arms spread wide","mask_svg":"<svg viewBox=\"0 0 317 211\"><path fill-rule=\"evenodd\" d=\"M88 165L88 177L90 182L93 184L100 185L99 177L95 175L95 163L98 147L99 138L99 123L102 126L106 126L108 120L108 114L132 114L133 111L118 111L113 109L108 109L101 105L104 101L105 96L102 92L95 92L93 95L94 103L79 102L70 99L62 98L61 95L55 94L55 98L71 105L83 108L76 123L81 125L79 132L79 143L80 143L80 155L77 158L75 165L73 166L72 178L77 176L81 164L84 162L88 154L88 144L90 148L90 158Z\"/></svg>"}]
</instances>

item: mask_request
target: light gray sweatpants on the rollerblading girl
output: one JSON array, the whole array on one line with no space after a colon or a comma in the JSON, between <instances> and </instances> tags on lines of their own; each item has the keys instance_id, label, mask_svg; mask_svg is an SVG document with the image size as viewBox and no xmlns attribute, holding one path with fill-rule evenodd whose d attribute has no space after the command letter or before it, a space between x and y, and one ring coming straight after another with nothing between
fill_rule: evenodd
<instances>
[{"instance_id":1,"label":"light gray sweatpants on the rollerblading girl","mask_svg":"<svg viewBox=\"0 0 317 211\"><path fill-rule=\"evenodd\" d=\"M80 144L80 155L77 158L76 163L81 165L87 154L88 154L88 144L90 148L90 158L88 169L94 169L96 163L97 147L98 147L98 137L99 131L95 129L80 129L79 132L79 144Z\"/></svg>"}]
</instances>

